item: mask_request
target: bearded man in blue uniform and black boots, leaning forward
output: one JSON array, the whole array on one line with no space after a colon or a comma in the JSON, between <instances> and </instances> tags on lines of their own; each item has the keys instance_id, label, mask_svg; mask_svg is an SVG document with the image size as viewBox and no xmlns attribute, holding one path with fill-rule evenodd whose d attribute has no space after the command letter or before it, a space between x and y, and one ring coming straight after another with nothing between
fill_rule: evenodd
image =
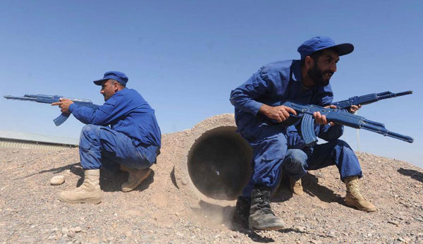
<instances>
[{"instance_id":1,"label":"bearded man in blue uniform and black boots, leaning forward","mask_svg":"<svg viewBox=\"0 0 423 244\"><path fill-rule=\"evenodd\" d=\"M300 60L266 64L232 90L230 100L235 106L238 132L253 149L253 173L243 195L238 197L235 220L248 221L252 229L283 228L283 220L271 211L270 193L277 186L288 151L288 128L281 122L296 112L281 104L290 101L330 106L333 92L329 80L336 72L339 56L350 54L353 49L353 44L335 44L329 37L313 37L298 47ZM319 113L314 114L314 119L318 124L328 124L326 116ZM328 127L328 130L338 128ZM352 162L343 157L338 159L346 169ZM295 172L296 178L303 173ZM351 181L350 176L361 177L361 170L350 173L344 175L345 181Z\"/></svg>"}]
</instances>

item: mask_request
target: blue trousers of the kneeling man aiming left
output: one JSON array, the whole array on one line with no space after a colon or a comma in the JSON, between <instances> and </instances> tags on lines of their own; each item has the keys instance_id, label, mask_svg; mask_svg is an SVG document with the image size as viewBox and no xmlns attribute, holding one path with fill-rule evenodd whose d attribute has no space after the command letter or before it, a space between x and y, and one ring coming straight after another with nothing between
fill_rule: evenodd
<instances>
[{"instance_id":1,"label":"blue trousers of the kneeling man aiming left","mask_svg":"<svg viewBox=\"0 0 423 244\"><path fill-rule=\"evenodd\" d=\"M149 168L157 157L158 147L135 147L133 140L106 126L87 125L80 135L82 169L118 169L120 164L130 169Z\"/></svg>"}]
</instances>

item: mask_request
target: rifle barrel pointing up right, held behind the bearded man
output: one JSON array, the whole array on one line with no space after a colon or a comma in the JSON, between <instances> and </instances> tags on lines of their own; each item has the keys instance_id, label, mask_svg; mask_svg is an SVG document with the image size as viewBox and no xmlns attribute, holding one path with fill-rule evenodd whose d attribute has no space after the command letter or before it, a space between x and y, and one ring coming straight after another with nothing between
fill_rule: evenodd
<instances>
[{"instance_id":1,"label":"rifle barrel pointing up right, held behind the bearded man","mask_svg":"<svg viewBox=\"0 0 423 244\"><path fill-rule=\"evenodd\" d=\"M373 102L377 102L379 100L388 99L392 97L400 97L407 94L412 94L412 91L405 91L405 92L380 92L380 93L371 93L363 96L355 96L350 97L346 100L334 102L332 105L335 105L338 109L348 109L351 105L366 105L371 104Z\"/></svg>"}]
</instances>

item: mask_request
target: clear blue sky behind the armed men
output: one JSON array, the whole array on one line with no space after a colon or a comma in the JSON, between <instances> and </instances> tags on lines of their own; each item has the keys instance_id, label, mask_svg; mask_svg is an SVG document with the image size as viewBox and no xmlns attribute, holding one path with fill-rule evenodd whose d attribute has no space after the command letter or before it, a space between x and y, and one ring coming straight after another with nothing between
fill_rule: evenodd
<instances>
[{"instance_id":1,"label":"clear blue sky behind the armed men","mask_svg":"<svg viewBox=\"0 0 423 244\"><path fill-rule=\"evenodd\" d=\"M1 1L0 94L59 94L102 104L92 80L123 71L156 109L162 133L232 113L231 90L265 63L299 59L317 35L351 42L331 79L335 100L414 94L364 106L360 116L413 144L360 130L360 151L423 167L422 1ZM78 138L59 109L0 99L0 130ZM357 150L356 132L343 139Z\"/></svg>"}]
</instances>

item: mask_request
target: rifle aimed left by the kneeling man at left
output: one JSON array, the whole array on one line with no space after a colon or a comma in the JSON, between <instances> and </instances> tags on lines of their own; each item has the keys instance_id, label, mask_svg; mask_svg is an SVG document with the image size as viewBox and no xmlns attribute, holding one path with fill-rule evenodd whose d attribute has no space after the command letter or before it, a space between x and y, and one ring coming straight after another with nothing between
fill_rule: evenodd
<instances>
[{"instance_id":1,"label":"rifle aimed left by the kneeling man at left","mask_svg":"<svg viewBox=\"0 0 423 244\"><path fill-rule=\"evenodd\" d=\"M32 101L32 102L41 102L43 104L52 104L54 102L60 102L61 98L66 98L77 104L78 106L88 106L92 109L97 109L99 105L93 104L89 99L78 99L78 98L67 98L58 95L35 95L35 94L25 94L23 97L13 97L9 95L3 96L6 99L15 99L22 101ZM54 118L54 124L60 126L66 119L69 118L71 114L62 113L59 117Z\"/></svg>"}]
</instances>

